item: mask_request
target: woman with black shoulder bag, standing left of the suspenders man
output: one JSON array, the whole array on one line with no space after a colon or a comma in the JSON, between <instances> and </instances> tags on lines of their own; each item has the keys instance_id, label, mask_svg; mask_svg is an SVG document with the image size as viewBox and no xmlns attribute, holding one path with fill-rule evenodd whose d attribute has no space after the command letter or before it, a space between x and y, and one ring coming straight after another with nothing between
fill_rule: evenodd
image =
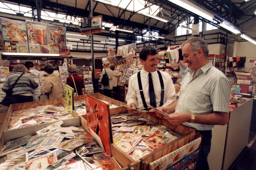
<instances>
[{"instance_id":1,"label":"woman with black shoulder bag, standing left of the suspenders man","mask_svg":"<svg viewBox=\"0 0 256 170\"><path fill-rule=\"evenodd\" d=\"M105 70L106 70L106 73L108 74L109 86L103 86L103 84L101 84L101 86L104 90L104 95L111 98L111 92L112 92L112 89L113 89L113 77L114 77L114 75L113 75L112 70L110 70L110 68L109 68L109 66L110 66L109 62L103 63L102 66L103 66L103 70L101 72L99 83L101 82L102 76L103 76L103 74L105 74Z\"/></svg>"}]
</instances>

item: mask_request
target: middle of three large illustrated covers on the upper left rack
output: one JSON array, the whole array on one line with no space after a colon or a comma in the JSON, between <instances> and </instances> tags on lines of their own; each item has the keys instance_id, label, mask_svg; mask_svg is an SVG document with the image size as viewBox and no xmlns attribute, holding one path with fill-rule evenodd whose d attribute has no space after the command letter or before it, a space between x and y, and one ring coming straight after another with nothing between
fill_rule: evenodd
<instances>
[{"instance_id":1,"label":"middle of three large illustrated covers on the upper left rack","mask_svg":"<svg viewBox=\"0 0 256 170\"><path fill-rule=\"evenodd\" d=\"M29 44L46 45L46 23L26 20Z\"/></svg>"}]
</instances>

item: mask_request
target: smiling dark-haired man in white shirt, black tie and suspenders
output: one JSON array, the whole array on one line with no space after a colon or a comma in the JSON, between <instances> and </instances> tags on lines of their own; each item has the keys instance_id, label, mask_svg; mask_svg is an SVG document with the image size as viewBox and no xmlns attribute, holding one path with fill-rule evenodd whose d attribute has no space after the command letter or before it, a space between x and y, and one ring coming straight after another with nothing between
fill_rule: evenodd
<instances>
[{"instance_id":1,"label":"smiling dark-haired man in white shirt, black tie and suspenders","mask_svg":"<svg viewBox=\"0 0 256 170\"><path fill-rule=\"evenodd\" d=\"M153 47L144 47L140 51L139 57L143 65L143 70L133 74L129 79L126 95L128 106L134 109L149 110L148 105L159 107L172 104L176 100L172 78L167 72L156 70L158 64L156 49ZM152 89L150 82L154 86ZM142 91L140 91L139 84L142 86ZM128 111L132 112L134 109L128 108Z\"/></svg>"}]
</instances>

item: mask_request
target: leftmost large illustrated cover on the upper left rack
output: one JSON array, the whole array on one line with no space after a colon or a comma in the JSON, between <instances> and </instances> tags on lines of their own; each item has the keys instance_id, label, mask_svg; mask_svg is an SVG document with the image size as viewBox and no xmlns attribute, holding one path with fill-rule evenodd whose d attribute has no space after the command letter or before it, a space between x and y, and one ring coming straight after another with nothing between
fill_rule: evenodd
<instances>
[{"instance_id":1,"label":"leftmost large illustrated cover on the upper left rack","mask_svg":"<svg viewBox=\"0 0 256 170\"><path fill-rule=\"evenodd\" d=\"M26 23L24 21L1 18L1 25L4 40L28 43Z\"/></svg>"}]
</instances>

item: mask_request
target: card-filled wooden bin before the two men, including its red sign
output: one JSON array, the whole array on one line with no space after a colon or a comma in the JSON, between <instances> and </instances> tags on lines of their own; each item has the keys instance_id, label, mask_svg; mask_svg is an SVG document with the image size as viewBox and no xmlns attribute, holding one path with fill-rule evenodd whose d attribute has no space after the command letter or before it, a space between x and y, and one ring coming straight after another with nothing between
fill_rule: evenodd
<instances>
[{"instance_id":1,"label":"card-filled wooden bin before the two men, including its red sign","mask_svg":"<svg viewBox=\"0 0 256 170\"><path fill-rule=\"evenodd\" d=\"M91 95L86 95L85 100L88 127L99 135L105 150L123 168L148 170L154 164L161 164L165 157L178 153L176 158L174 156L165 162L175 164L200 145L200 134L195 129L170 125L167 120L156 117L154 112L110 113L109 104ZM150 145L151 141L155 141L156 145ZM158 141L161 142L159 145ZM185 145L188 150L183 153L180 148Z\"/></svg>"}]
</instances>

